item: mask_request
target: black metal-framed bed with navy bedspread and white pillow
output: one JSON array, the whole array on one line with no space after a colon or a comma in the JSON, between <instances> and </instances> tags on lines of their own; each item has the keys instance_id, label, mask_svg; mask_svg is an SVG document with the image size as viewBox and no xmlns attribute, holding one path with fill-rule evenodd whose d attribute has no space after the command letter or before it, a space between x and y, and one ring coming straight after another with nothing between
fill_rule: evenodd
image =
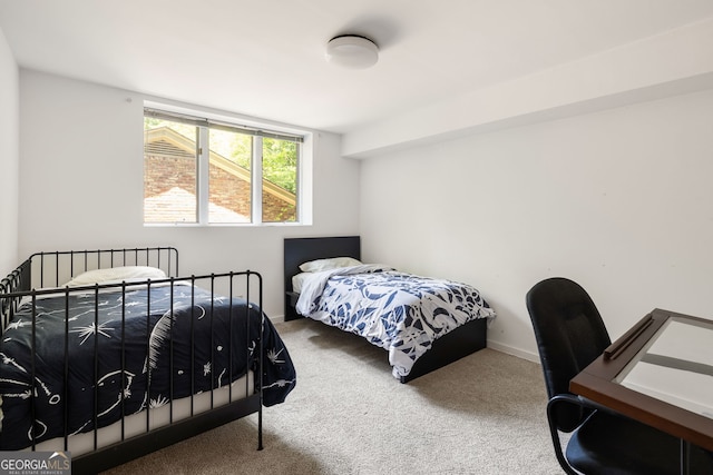
<instances>
[{"instance_id":1,"label":"black metal-framed bed with navy bedspread and white pillow","mask_svg":"<svg viewBox=\"0 0 713 475\"><path fill-rule=\"evenodd\" d=\"M178 276L174 248L41 253L0 281L0 451L97 473L282 403L287 349L252 271Z\"/></svg>"}]
</instances>

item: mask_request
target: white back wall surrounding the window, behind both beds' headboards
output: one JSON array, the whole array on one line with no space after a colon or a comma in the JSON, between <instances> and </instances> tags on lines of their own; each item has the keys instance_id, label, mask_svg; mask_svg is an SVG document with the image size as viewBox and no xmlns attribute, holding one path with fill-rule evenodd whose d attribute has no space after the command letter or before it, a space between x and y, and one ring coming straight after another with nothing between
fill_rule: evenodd
<instances>
[{"instance_id":1,"label":"white back wall surrounding the window, behind both beds' headboards","mask_svg":"<svg viewBox=\"0 0 713 475\"><path fill-rule=\"evenodd\" d=\"M358 232L360 162L315 133L313 226L144 227L143 100L20 71L20 254L176 246L182 274L260 271L265 310L282 316L283 238Z\"/></svg>"}]
</instances>

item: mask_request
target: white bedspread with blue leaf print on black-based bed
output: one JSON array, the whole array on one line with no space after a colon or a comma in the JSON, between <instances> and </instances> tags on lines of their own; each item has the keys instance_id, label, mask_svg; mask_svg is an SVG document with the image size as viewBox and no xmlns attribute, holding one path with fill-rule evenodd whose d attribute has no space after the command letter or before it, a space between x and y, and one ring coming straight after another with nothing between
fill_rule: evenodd
<instances>
[{"instance_id":1,"label":"white bedspread with blue leaf print on black-based bed","mask_svg":"<svg viewBox=\"0 0 713 475\"><path fill-rule=\"evenodd\" d=\"M296 310L388 349L397 378L440 336L496 315L475 287L368 264L315 273Z\"/></svg>"}]
</instances>

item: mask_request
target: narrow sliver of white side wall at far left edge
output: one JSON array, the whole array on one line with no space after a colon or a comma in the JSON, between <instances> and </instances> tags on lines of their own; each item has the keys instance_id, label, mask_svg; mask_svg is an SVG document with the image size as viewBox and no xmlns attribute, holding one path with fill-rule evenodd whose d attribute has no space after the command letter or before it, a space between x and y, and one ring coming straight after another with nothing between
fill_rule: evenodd
<instances>
[{"instance_id":1,"label":"narrow sliver of white side wall at far left edge","mask_svg":"<svg viewBox=\"0 0 713 475\"><path fill-rule=\"evenodd\" d=\"M0 276L18 264L19 72L0 30Z\"/></svg>"}]
</instances>

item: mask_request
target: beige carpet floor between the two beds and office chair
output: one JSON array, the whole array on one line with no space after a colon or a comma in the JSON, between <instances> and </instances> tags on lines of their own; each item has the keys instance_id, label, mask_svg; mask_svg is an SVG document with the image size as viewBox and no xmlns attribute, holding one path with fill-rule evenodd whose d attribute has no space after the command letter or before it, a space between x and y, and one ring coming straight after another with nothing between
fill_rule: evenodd
<instances>
[{"instance_id":1,"label":"beige carpet floor between the two beds and office chair","mask_svg":"<svg viewBox=\"0 0 713 475\"><path fill-rule=\"evenodd\" d=\"M538 365L484 349L409 384L387 353L312 320L277 324L284 404L107 474L558 474Z\"/></svg>"}]
</instances>

